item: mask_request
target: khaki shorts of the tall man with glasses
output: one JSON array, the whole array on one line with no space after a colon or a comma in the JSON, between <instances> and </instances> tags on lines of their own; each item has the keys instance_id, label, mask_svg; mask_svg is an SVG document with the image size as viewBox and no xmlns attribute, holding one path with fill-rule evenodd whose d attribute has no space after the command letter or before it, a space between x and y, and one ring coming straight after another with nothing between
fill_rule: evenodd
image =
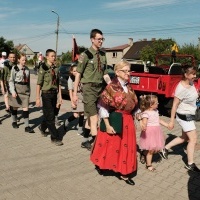
<instances>
[{"instance_id":1,"label":"khaki shorts of the tall man with glasses","mask_svg":"<svg viewBox=\"0 0 200 200\"><path fill-rule=\"evenodd\" d=\"M83 103L84 113L87 117L98 114L97 101L102 91L101 85L92 86L91 84L83 84Z\"/></svg>"}]
</instances>

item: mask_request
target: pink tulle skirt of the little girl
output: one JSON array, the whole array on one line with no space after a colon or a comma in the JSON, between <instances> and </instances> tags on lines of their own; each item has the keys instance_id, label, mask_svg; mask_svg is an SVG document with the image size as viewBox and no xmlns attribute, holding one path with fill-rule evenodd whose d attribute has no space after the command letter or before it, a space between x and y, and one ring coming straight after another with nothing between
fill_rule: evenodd
<instances>
[{"instance_id":1,"label":"pink tulle skirt of the little girl","mask_svg":"<svg viewBox=\"0 0 200 200\"><path fill-rule=\"evenodd\" d=\"M140 149L160 151L164 148L165 138L160 126L147 126L140 135Z\"/></svg>"}]
</instances>

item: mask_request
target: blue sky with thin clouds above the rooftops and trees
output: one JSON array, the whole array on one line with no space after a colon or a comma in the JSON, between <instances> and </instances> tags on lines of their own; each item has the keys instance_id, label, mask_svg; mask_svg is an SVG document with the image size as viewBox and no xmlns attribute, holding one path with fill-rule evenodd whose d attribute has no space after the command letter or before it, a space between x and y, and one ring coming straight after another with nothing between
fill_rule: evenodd
<instances>
[{"instance_id":1,"label":"blue sky with thin clouds above the rooftops and trees","mask_svg":"<svg viewBox=\"0 0 200 200\"><path fill-rule=\"evenodd\" d=\"M56 47L57 15L60 16L58 53L72 49L72 35L79 46L90 47L90 30L103 31L104 47L147 38L173 38L179 45L198 44L199 0L0 0L0 36L33 51Z\"/></svg>"}]
</instances>

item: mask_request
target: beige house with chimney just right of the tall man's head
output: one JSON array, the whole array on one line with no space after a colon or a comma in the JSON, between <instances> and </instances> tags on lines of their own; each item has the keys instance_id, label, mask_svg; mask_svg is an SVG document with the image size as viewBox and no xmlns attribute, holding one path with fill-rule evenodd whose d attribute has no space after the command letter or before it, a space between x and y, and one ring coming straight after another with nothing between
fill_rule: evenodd
<instances>
[{"instance_id":1,"label":"beige house with chimney just right of the tall man's head","mask_svg":"<svg viewBox=\"0 0 200 200\"><path fill-rule=\"evenodd\" d=\"M114 66L123 58L132 45L133 38L129 38L128 44L123 44L112 48L103 48L102 50L106 52L107 64Z\"/></svg>"}]
</instances>

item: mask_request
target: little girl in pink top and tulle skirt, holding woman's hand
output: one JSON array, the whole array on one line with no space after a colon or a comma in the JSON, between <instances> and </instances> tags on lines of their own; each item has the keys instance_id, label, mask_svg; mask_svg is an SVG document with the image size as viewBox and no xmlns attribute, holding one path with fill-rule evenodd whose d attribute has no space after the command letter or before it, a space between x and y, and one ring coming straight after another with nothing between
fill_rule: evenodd
<instances>
[{"instance_id":1,"label":"little girl in pink top and tulle skirt, holding woman's hand","mask_svg":"<svg viewBox=\"0 0 200 200\"><path fill-rule=\"evenodd\" d=\"M140 161L146 162L146 168L149 171L155 171L152 166L152 157L154 153L164 148L165 139L160 124L168 127L168 124L159 118L158 98L155 95L141 96L140 109L141 117L141 135L140 149L142 149Z\"/></svg>"}]
</instances>

